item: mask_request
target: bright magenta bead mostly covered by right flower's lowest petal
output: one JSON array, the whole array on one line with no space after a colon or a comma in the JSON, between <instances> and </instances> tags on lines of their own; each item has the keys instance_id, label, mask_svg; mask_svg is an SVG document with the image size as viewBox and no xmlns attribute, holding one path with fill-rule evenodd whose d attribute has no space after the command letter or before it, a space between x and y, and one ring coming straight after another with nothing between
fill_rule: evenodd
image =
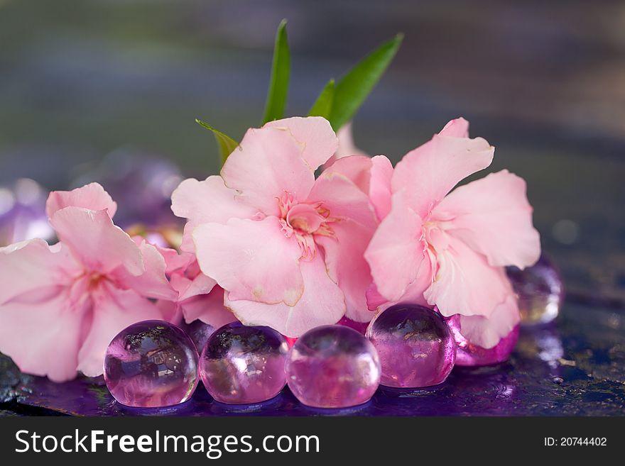
<instances>
[{"instance_id":1,"label":"bright magenta bead mostly covered by right flower's lowest petal","mask_svg":"<svg viewBox=\"0 0 625 466\"><path fill-rule=\"evenodd\" d=\"M518 340L518 328L515 326L504 338L499 340L493 348L482 348L482 346L470 343L464 335L460 333L460 315L456 314L447 318L447 325L450 327L456 343L456 365L458 366L488 366L504 362L510 357L516 340Z\"/></svg>"}]
</instances>

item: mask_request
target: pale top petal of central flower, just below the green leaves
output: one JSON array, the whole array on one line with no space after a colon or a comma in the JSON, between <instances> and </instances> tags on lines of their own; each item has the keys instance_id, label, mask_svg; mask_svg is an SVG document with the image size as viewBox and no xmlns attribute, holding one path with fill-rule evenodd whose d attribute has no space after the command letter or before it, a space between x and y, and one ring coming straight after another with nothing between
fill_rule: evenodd
<instances>
[{"instance_id":1,"label":"pale top petal of central flower, just below the green leaves","mask_svg":"<svg viewBox=\"0 0 625 466\"><path fill-rule=\"evenodd\" d=\"M303 145L301 157L314 172L335 153L339 140L330 122L320 116L284 118L270 121L263 128L277 128L288 131Z\"/></svg>"}]
</instances>

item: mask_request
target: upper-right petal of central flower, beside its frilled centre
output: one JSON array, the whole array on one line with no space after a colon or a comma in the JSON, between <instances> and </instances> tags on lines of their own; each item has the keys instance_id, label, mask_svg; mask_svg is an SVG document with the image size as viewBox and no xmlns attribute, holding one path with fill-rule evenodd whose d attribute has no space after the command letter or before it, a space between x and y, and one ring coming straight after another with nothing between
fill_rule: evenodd
<instances>
[{"instance_id":1,"label":"upper-right petal of central flower, beside its frilled centre","mask_svg":"<svg viewBox=\"0 0 625 466\"><path fill-rule=\"evenodd\" d=\"M330 211L330 218L352 220L369 228L377 221L369 196L343 174L325 171L310 191L308 202L321 202ZM332 228L332 223L329 224Z\"/></svg>"}]
</instances>

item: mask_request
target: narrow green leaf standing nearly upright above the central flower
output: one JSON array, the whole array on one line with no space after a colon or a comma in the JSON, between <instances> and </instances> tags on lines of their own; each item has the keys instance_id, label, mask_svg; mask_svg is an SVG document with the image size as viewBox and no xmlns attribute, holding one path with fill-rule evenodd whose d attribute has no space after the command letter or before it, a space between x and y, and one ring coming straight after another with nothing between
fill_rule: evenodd
<instances>
[{"instance_id":1,"label":"narrow green leaf standing nearly upright above the central flower","mask_svg":"<svg viewBox=\"0 0 625 466\"><path fill-rule=\"evenodd\" d=\"M288 94L288 79L290 74L290 52L286 38L286 19L278 26L276 33L276 45L273 48L273 65L271 66L271 80L263 124L268 121L278 120L284 116L286 96Z\"/></svg>"}]
</instances>

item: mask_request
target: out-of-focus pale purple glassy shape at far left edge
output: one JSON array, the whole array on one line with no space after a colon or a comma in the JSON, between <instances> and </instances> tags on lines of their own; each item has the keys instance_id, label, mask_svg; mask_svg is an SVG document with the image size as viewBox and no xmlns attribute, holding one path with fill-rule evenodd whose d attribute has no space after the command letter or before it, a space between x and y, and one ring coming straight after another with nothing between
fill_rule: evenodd
<instances>
[{"instance_id":1,"label":"out-of-focus pale purple glassy shape at far left edge","mask_svg":"<svg viewBox=\"0 0 625 466\"><path fill-rule=\"evenodd\" d=\"M33 238L54 238L45 216L47 196L33 179L21 178L10 186L0 186L0 247Z\"/></svg>"}]
</instances>

